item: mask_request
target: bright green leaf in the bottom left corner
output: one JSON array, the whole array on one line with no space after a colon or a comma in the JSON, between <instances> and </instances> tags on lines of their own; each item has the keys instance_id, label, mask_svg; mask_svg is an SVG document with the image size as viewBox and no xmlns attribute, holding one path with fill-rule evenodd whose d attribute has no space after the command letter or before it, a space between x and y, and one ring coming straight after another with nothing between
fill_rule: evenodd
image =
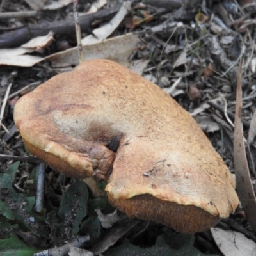
<instances>
[{"instance_id":1,"label":"bright green leaf in the bottom left corner","mask_svg":"<svg viewBox=\"0 0 256 256\"><path fill-rule=\"evenodd\" d=\"M0 240L1 256L33 256L40 249L31 248L28 244L21 241L16 235L8 239Z\"/></svg>"}]
</instances>

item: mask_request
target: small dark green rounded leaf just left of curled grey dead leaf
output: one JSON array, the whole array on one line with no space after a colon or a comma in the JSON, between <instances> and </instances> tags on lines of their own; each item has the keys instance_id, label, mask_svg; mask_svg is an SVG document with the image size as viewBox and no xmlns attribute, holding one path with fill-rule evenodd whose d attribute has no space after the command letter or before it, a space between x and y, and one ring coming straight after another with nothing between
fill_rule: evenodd
<instances>
[{"instance_id":1,"label":"small dark green rounded leaf just left of curled grey dead leaf","mask_svg":"<svg viewBox=\"0 0 256 256\"><path fill-rule=\"evenodd\" d=\"M84 221L80 228L81 235L89 234L91 240L97 239L100 236L100 220L96 216L88 218Z\"/></svg>"}]
</instances>

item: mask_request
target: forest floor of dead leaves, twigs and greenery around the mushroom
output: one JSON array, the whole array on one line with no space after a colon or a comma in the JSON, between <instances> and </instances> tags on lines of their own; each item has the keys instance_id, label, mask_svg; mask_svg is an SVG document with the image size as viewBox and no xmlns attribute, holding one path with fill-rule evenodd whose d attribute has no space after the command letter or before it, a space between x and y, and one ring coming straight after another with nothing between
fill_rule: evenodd
<instances>
[{"instance_id":1,"label":"forest floor of dead leaves, twigs and greenery around the mushroom","mask_svg":"<svg viewBox=\"0 0 256 256\"><path fill-rule=\"evenodd\" d=\"M195 118L234 179L236 163L248 171L246 185L237 182L241 204L236 212L211 230L179 234L154 222L127 219L106 196L95 198L84 182L28 156L13 109L22 95L79 64L73 3L3 0L1 255L254 255L256 222L250 216L256 214L255 196L250 201L246 196L255 188L256 173L256 4L187 2L80 0L83 57L115 60L156 83ZM241 116L236 113L239 100ZM239 135L235 118L243 124ZM244 141L245 149L236 152L236 141ZM38 176L42 169L45 177ZM38 179L45 180L41 192ZM36 201L38 193L44 194L42 202Z\"/></svg>"}]
</instances>

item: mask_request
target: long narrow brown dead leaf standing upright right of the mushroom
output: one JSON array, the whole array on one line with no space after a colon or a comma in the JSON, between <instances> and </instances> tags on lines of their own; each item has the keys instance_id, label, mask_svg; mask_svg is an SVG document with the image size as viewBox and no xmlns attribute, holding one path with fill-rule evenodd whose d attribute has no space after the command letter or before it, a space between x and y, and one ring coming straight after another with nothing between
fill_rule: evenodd
<instances>
[{"instance_id":1,"label":"long narrow brown dead leaf standing upright right of the mushroom","mask_svg":"<svg viewBox=\"0 0 256 256\"><path fill-rule=\"evenodd\" d=\"M234 163L236 173L236 191L239 200L243 206L248 221L256 231L256 198L254 195L250 172L246 159L244 146L243 124L241 122L241 111L243 106L243 96L241 89L241 62L237 72L237 89L236 89L236 117L234 129Z\"/></svg>"}]
</instances>

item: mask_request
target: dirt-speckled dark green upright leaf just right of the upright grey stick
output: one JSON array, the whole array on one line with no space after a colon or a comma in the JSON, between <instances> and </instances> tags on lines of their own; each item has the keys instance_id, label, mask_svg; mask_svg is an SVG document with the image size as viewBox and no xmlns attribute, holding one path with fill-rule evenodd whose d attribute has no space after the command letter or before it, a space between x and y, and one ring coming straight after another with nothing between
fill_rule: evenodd
<instances>
[{"instance_id":1,"label":"dirt-speckled dark green upright leaf just right of the upright grey stick","mask_svg":"<svg viewBox=\"0 0 256 256\"><path fill-rule=\"evenodd\" d=\"M65 222L72 221L72 236L79 230L79 224L87 214L88 189L83 181L72 184L61 198L58 214Z\"/></svg>"}]
</instances>

